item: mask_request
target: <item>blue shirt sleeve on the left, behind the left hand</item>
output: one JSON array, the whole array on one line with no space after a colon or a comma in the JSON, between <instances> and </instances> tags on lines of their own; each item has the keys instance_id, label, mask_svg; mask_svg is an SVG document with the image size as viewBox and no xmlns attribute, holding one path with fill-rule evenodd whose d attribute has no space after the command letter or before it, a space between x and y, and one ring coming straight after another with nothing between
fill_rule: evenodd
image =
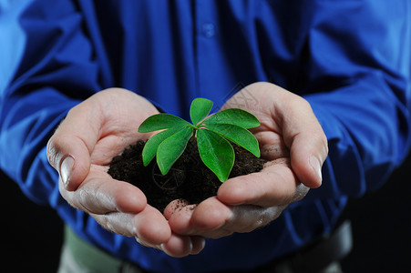
<instances>
[{"instance_id":1,"label":"blue shirt sleeve on the left, behind the left hand","mask_svg":"<svg viewBox=\"0 0 411 273\"><path fill-rule=\"evenodd\" d=\"M0 167L28 197L55 207L57 176L47 162L46 142L67 111L98 88L97 66L70 2L40 1L27 8L32 2L0 5L5 71L0 75ZM42 10L53 12L38 16Z\"/></svg>"}]
</instances>

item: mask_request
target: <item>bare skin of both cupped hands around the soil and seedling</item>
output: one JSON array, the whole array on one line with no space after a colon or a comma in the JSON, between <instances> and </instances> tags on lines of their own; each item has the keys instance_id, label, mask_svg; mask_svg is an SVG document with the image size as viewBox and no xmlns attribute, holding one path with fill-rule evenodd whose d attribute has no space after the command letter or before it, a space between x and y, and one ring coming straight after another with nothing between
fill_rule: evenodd
<instances>
[{"instance_id":1,"label":"bare skin of both cupped hands around the soil and seedling","mask_svg":"<svg viewBox=\"0 0 411 273\"><path fill-rule=\"evenodd\" d=\"M135 237L172 257L199 253L204 238L251 232L279 217L285 207L322 182L327 141L313 110L301 96L279 86L255 83L234 95L252 94L243 109L261 121L252 129L262 157L260 173L224 182L217 194L195 206L166 207L164 214L147 204L139 188L107 174L111 158L150 134L137 130L159 113L148 100L120 88L98 92L72 108L47 144L51 166L59 173L60 194L110 231ZM223 107L223 108L224 108ZM190 208L190 209L187 209Z\"/></svg>"}]
</instances>

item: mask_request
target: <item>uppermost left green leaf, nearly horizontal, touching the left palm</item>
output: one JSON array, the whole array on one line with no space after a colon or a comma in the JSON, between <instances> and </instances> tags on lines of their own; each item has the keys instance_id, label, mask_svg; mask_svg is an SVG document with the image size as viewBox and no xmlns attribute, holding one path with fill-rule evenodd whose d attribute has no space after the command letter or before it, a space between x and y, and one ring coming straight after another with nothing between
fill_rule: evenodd
<instances>
[{"instance_id":1,"label":"uppermost left green leaf, nearly horizontal, touching the left palm","mask_svg":"<svg viewBox=\"0 0 411 273\"><path fill-rule=\"evenodd\" d=\"M139 126L139 133L148 133L177 126L191 126L191 124L179 116L161 113L149 116L144 120Z\"/></svg>"}]
</instances>

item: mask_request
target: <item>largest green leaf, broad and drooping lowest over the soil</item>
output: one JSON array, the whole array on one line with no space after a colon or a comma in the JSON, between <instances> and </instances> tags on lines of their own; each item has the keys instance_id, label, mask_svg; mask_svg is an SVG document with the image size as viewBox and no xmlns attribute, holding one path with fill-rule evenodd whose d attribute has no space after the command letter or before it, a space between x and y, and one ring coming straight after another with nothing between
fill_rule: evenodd
<instances>
[{"instance_id":1,"label":"largest green leaf, broad and drooping lowest over the soil","mask_svg":"<svg viewBox=\"0 0 411 273\"><path fill-rule=\"evenodd\" d=\"M197 131L197 145L205 166L224 182L234 165L234 149L223 137L207 129Z\"/></svg>"}]
</instances>

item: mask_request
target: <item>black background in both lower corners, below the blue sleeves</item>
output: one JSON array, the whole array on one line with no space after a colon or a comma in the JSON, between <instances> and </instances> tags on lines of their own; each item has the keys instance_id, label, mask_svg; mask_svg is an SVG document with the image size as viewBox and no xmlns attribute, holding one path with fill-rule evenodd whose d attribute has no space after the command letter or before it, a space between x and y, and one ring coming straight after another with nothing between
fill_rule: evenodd
<instances>
[{"instance_id":1,"label":"black background in both lower corners, below the blue sleeves","mask_svg":"<svg viewBox=\"0 0 411 273\"><path fill-rule=\"evenodd\" d=\"M2 268L56 272L62 223L49 207L28 200L0 172ZM411 157L377 191L351 199L342 217L352 221L354 250L344 272L411 272Z\"/></svg>"}]
</instances>

